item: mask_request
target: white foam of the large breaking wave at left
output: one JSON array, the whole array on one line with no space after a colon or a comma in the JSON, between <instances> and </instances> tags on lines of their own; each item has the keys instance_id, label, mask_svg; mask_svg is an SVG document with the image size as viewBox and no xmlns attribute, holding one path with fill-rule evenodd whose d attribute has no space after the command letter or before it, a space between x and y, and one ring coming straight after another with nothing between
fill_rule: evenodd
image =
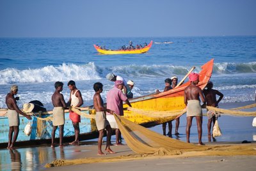
<instances>
[{"instance_id":1,"label":"white foam of the large breaking wave at left","mask_svg":"<svg viewBox=\"0 0 256 171\"><path fill-rule=\"evenodd\" d=\"M45 66L33 70L7 68L0 72L0 78L0 84L100 79L94 63L83 65L63 63L60 66Z\"/></svg>"}]
</instances>

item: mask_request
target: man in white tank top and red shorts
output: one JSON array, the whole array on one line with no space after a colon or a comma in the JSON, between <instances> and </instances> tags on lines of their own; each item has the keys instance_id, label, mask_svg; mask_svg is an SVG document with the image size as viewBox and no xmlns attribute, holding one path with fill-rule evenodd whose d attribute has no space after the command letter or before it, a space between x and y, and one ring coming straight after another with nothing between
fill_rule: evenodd
<instances>
[{"instance_id":1,"label":"man in white tank top and red shorts","mask_svg":"<svg viewBox=\"0 0 256 171\"><path fill-rule=\"evenodd\" d=\"M83 98L82 94L76 87L76 82L73 80L70 80L68 82L68 88L70 89L70 98L68 100L68 104L70 104L73 107L81 107L83 105ZM76 112L73 112L72 110L69 111L69 118L72 121L74 130L75 130L75 140L73 142L70 142L70 145L79 145L79 123L81 123L81 116L76 114Z\"/></svg>"}]
</instances>

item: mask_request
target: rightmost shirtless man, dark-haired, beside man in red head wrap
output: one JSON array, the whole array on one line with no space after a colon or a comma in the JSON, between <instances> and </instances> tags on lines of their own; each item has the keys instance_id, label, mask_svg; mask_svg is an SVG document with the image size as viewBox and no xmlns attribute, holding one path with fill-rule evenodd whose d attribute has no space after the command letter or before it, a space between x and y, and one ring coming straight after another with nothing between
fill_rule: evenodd
<instances>
[{"instance_id":1,"label":"rightmost shirtless man, dark-haired, beside man in red head wrap","mask_svg":"<svg viewBox=\"0 0 256 171\"><path fill-rule=\"evenodd\" d=\"M216 90L216 89L212 89L213 84L212 82L209 82L206 85L207 89L204 89L203 93L205 96L205 103L207 106L210 107L218 107L218 104L220 103L220 101L223 98L223 94L220 93L220 91ZM220 96L220 98L218 100L216 100L216 95ZM204 105L205 105L204 103ZM211 113L211 112L210 112ZM210 115L209 112L207 112L208 115L208 124L207 124L207 128L208 128L208 139L211 142L211 125L212 127L215 124L216 121L216 115ZM213 124L212 124L213 122Z\"/></svg>"}]
</instances>

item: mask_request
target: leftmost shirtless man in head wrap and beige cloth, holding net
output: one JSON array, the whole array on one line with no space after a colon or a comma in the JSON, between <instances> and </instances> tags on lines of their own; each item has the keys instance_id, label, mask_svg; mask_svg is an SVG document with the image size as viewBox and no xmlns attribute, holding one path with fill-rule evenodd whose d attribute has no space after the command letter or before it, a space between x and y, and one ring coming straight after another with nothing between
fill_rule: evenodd
<instances>
[{"instance_id":1,"label":"leftmost shirtless man in head wrap and beige cloth, holding net","mask_svg":"<svg viewBox=\"0 0 256 171\"><path fill-rule=\"evenodd\" d=\"M9 121L9 135L8 135L8 146L7 149L14 149L15 142L19 135L19 125L20 119L19 114L24 115L27 119L32 119L30 115L24 114L17 106L17 101L19 98L14 98L14 95L18 93L18 86L12 85L11 91L6 95L5 103L7 105L8 111L8 121ZM14 132L14 135L13 135Z\"/></svg>"}]
</instances>

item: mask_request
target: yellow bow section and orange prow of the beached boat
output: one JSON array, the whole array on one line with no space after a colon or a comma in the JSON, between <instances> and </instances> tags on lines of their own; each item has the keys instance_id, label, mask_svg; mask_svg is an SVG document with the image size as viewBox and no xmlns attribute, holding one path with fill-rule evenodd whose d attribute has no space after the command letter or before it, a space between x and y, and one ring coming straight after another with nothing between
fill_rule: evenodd
<instances>
[{"instance_id":1,"label":"yellow bow section and orange prow of the beached boat","mask_svg":"<svg viewBox=\"0 0 256 171\"><path fill-rule=\"evenodd\" d=\"M200 82L197 85L200 89L204 89L211 78L213 61L214 59L211 59L211 61L201 66ZM184 89L189 84L188 81L163 93L150 94L129 100L132 108L124 104L124 108L128 108L128 110L124 110L124 117L129 121L147 127L176 119L186 112Z\"/></svg>"}]
</instances>

